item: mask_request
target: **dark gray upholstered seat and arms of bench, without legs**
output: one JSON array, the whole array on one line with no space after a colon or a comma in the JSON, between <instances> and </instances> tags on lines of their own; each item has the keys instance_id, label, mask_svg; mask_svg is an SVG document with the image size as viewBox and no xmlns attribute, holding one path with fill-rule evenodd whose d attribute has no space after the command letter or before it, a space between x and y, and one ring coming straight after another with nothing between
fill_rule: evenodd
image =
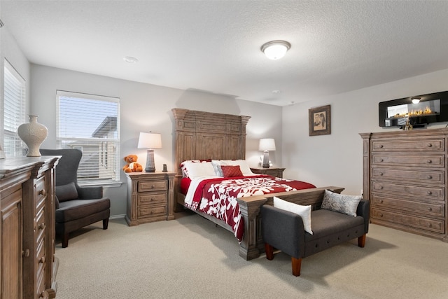
<instances>
[{"instance_id":1,"label":"dark gray upholstered seat and arms of bench, without legs","mask_svg":"<svg viewBox=\"0 0 448 299\"><path fill-rule=\"evenodd\" d=\"M370 203L367 200L361 200L358 204L356 217L326 209L311 211L311 235L304 231L299 215L263 205L262 237L268 246L301 259L350 239L363 237L368 232L369 213Z\"/></svg>"}]
</instances>

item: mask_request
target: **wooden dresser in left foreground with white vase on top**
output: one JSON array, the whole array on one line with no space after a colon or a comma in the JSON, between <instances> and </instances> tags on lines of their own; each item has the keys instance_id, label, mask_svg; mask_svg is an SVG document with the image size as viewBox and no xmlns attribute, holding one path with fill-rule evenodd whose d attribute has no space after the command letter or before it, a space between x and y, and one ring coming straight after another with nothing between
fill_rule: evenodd
<instances>
[{"instance_id":1,"label":"wooden dresser in left foreground with white vase on top","mask_svg":"<svg viewBox=\"0 0 448 299\"><path fill-rule=\"evenodd\" d=\"M55 298L55 166L59 157L0 159L0 298Z\"/></svg>"}]
</instances>

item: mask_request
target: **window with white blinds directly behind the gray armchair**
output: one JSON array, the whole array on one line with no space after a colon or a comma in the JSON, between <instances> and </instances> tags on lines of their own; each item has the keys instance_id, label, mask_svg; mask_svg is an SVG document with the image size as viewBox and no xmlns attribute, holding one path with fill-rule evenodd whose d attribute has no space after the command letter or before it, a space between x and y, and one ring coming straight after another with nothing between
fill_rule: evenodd
<instances>
[{"instance_id":1,"label":"window with white blinds directly behind the gray armchair","mask_svg":"<svg viewBox=\"0 0 448 299\"><path fill-rule=\"evenodd\" d=\"M119 181L120 99L60 90L56 95L59 147L83 152L78 183Z\"/></svg>"}]
</instances>

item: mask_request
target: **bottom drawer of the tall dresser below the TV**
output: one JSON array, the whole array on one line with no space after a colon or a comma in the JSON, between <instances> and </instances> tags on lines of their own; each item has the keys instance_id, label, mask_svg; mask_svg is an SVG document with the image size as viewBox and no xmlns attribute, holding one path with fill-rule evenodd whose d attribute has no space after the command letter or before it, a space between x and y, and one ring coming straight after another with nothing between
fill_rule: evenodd
<instances>
[{"instance_id":1,"label":"bottom drawer of the tall dresser below the TV","mask_svg":"<svg viewBox=\"0 0 448 299\"><path fill-rule=\"evenodd\" d=\"M444 233L444 221L442 220L400 214L375 208L372 209L372 218L412 226L413 228L419 228L422 230Z\"/></svg>"}]
</instances>

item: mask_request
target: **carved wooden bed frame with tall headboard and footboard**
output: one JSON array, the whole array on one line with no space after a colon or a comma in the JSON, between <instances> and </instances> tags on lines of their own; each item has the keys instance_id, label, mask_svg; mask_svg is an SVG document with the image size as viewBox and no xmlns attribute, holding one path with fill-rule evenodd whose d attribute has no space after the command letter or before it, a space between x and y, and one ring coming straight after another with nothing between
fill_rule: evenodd
<instances>
[{"instance_id":1,"label":"carved wooden bed frame with tall headboard and footboard","mask_svg":"<svg viewBox=\"0 0 448 299\"><path fill-rule=\"evenodd\" d=\"M188 109L172 109L175 132L175 165L174 198L176 211L186 207L186 194L181 193L181 182L184 177L182 162L211 161L211 160L244 160L246 154L246 125L250 116L235 116L230 114L210 113ZM267 178L258 175L255 177ZM313 186L314 187L314 186ZM340 193L344 188L324 187L303 190L286 190L284 192L269 193L269 195L253 195L237 198L239 213L241 214L242 232L239 240L239 256L251 260L260 256L264 251L261 237L260 207L271 204L272 197L300 204L311 204L314 208L320 206L321 194L325 189ZM235 233L235 226L225 223L209 214L192 209L204 218Z\"/></svg>"}]
</instances>

